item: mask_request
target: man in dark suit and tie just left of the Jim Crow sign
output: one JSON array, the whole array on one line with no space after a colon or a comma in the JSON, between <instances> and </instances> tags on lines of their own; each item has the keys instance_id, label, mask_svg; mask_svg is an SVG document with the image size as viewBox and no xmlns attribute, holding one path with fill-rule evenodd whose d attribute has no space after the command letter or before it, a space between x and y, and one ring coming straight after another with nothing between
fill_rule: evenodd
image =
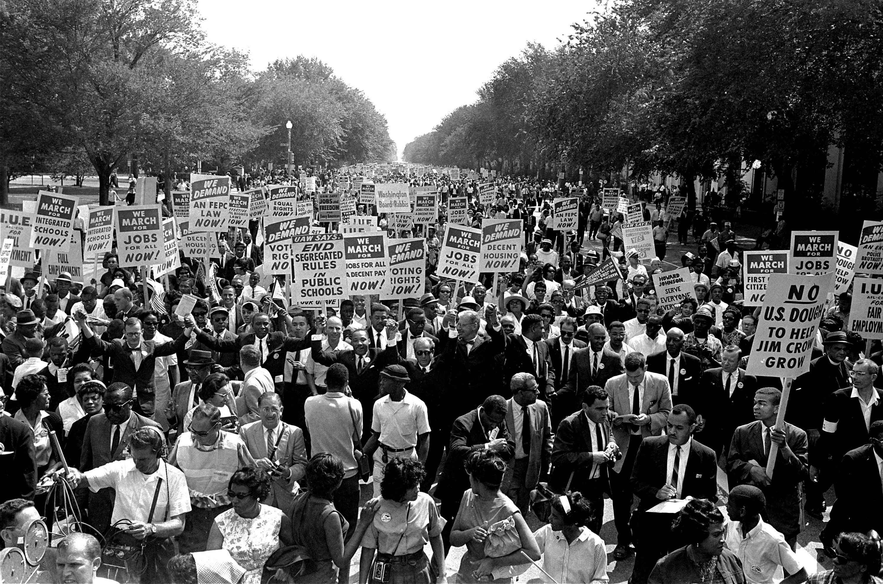
<instances>
[{"instance_id":1,"label":"man in dark suit and tie just left of the Jim Crow sign","mask_svg":"<svg viewBox=\"0 0 883 584\"><path fill-rule=\"evenodd\" d=\"M706 370L699 387L705 395L698 397L696 405L701 409L695 411L707 429L703 438L716 452L726 454L733 431L754 420L758 381L739 367L739 348L728 345L721 355L721 367ZM706 431L711 433L706 435Z\"/></svg>"}]
</instances>

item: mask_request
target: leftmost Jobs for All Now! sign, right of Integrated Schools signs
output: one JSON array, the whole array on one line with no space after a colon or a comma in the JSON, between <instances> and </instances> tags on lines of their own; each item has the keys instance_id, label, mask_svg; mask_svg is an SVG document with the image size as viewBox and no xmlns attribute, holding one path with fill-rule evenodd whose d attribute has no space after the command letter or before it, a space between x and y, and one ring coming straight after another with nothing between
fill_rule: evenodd
<instances>
[{"instance_id":1,"label":"leftmost Jobs for All Now! sign, right of Integrated Schools signs","mask_svg":"<svg viewBox=\"0 0 883 584\"><path fill-rule=\"evenodd\" d=\"M114 207L120 266L151 266L164 258L159 205Z\"/></svg>"}]
</instances>

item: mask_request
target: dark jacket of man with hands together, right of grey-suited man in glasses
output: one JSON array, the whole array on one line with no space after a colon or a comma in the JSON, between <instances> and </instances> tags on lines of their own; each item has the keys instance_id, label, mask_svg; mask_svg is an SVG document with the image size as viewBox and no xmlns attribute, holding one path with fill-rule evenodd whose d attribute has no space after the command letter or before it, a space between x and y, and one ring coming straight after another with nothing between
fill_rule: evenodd
<instances>
[{"instance_id":1,"label":"dark jacket of man with hands together, right of grey-suited man in glasses","mask_svg":"<svg viewBox=\"0 0 883 584\"><path fill-rule=\"evenodd\" d=\"M610 442L615 442L612 428L607 420L600 424L600 428L605 446ZM580 410L564 418L558 424L558 430L555 431L555 443L552 445L554 467L549 483L555 492L564 492L568 481L570 481L570 473L573 473L570 490L591 492L584 490L584 488L597 466L597 463L592 462L592 452L594 452L592 450L592 430L589 428L589 422L583 411ZM608 464L600 465L598 478L604 482L605 489L609 489Z\"/></svg>"}]
</instances>

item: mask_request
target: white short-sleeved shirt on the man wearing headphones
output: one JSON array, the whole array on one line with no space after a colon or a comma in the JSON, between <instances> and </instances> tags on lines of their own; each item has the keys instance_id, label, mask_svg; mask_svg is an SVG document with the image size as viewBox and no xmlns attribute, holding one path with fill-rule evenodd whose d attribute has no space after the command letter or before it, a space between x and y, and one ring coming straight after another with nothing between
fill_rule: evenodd
<instances>
[{"instance_id":1,"label":"white short-sleeved shirt on the man wearing headphones","mask_svg":"<svg viewBox=\"0 0 883 584\"><path fill-rule=\"evenodd\" d=\"M135 468L135 461L132 459L115 460L83 474L89 480L89 489L93 492L106 487L117 490L113 515L110 517L111 524L121 519L147 523L156 483L160 478L162 485L159 498L156 499L153 522L160 523L166 517L171 519L191 509L184 473L165 460L160 461L160 467L153 475L145 475Z\"/></svg>"}]
</instances>

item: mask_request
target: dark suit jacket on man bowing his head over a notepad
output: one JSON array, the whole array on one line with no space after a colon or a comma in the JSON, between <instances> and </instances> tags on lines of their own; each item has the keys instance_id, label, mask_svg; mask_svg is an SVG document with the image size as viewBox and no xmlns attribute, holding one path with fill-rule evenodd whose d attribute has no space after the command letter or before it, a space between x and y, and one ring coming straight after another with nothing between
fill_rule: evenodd
<instances>
[{"instance_id":1,"label":"dark suit jacket on man bowing his head over a notepad","mask_svg":"<svg viewBox=\"0 0 883 584\"><path fill-rule=\"evenodd\" d=\"M500 453L502 459L511 459L515 455L515 443L505 421L500 424L497 438L506 439L506 449ZM445 499L458 501L463 497L466 489L470 488L469 475L464 468L466 457L474 450L483 450L487 441L487 434L479 420L478 408L454 420L450 428L448 455L444 460L439 483L435 487L436 497L442 501Z\"/></svg>"}]
</instances>

